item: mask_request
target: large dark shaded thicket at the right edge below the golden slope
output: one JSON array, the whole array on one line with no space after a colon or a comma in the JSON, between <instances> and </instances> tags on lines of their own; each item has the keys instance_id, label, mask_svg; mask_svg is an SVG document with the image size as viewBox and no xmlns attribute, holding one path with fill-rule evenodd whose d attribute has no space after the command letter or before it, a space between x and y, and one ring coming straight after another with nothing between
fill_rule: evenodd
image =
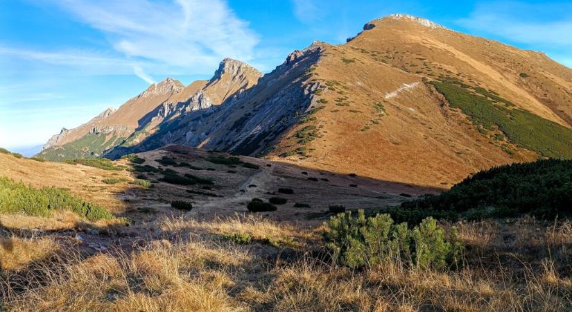
<instances>
[{"instance_id":1,"label":"large dark shaded thicket at the right edge below the golden slope","mask_svg":"<svg viewBox=\"0 0 572 312\"><path fill-rule=\"evenodd\" d=\"M386 209L398 220L572 216L572 160L544 159L476 173L437 196Z\"/></svg>"}]
</instances>

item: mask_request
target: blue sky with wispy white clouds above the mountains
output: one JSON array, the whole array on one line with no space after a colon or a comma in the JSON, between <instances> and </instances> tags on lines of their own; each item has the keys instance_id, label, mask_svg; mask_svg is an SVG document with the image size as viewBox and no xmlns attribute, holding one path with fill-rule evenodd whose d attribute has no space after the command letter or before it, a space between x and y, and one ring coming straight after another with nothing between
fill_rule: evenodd
<instances>
[{"instance_id":1,"label":"blue sky with wispy white clouds above the mountains","mask_svg":"<svg viewBox=\"0 0 572 312\"><path fill-rule=\"evenodd\" d=\"M3 0L0 146L43 144L166 76L209 78L225 57L271 71L395 12L572 67L572 1Z\"/></svg>"}]
</instances>

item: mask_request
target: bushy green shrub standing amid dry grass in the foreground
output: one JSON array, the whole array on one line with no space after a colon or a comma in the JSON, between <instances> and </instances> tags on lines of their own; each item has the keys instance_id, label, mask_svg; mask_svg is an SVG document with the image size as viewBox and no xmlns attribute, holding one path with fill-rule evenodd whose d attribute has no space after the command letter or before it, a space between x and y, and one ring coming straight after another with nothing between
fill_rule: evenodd
<instances>
[{"instance_id":1,"label":"bushy green shrub standing amid dry grass in the foreground","mask_svg":"<svg viewBox=\"0 0 572 312\"><path fill-rule=\"evenodd\" d=\"M365 217L363 209L332 216L324 232L326 247L336 262L351 268L376 266L396 261L406 266L442 270L458 263L461 245L453 230L446 236L434 219L428 218L408 229L394 224L388 214Z\"/></svg>"}]
</instances>

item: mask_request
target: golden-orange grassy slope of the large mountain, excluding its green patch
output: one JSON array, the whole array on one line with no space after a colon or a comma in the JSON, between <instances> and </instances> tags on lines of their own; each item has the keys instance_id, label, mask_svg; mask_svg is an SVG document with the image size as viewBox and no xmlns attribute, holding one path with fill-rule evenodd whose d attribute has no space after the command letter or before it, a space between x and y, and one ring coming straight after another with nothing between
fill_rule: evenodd
<instances>
[{"instance_id":1,"label":"golden-orange grassy slope of the large mountain, excluding its green patch","mask_svg":"<svg viewBox=\"0 0 572 312\"><path fill-rule=\"evenodd\" d=\"M572 70L541 53L408 18L368 25L347 44L322 44L308 80L320 83L313 107L322 108L284 135L272 159L288 155L286 161L302 166L447 188L470 173L537 158L479 133L424 83L444 76L572 125ZM300 144L300 130L309 126L318 135Z\"/></svg>"}]
</instances>

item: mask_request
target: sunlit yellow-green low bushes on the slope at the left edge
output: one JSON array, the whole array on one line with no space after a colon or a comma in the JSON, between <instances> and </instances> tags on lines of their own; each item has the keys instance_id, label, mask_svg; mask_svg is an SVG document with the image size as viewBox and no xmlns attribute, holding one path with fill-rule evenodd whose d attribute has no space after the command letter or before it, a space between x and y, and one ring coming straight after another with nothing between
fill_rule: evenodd
<instances>
[{"instance_id":1,"label":"sunlit yellow-green low bushes on the slope at the left edge","mask_svg":"<svg viewBox=\"0 0 572 312\"><path fill-rule=\"evenodd\" d=\"M69 210L88 220L113 218L104 207L73 196L67 189L36 189L8 177L0 177L0 214L24 212L30 216L51 216L52 211Z\"/></svg>"}]
</instances>

